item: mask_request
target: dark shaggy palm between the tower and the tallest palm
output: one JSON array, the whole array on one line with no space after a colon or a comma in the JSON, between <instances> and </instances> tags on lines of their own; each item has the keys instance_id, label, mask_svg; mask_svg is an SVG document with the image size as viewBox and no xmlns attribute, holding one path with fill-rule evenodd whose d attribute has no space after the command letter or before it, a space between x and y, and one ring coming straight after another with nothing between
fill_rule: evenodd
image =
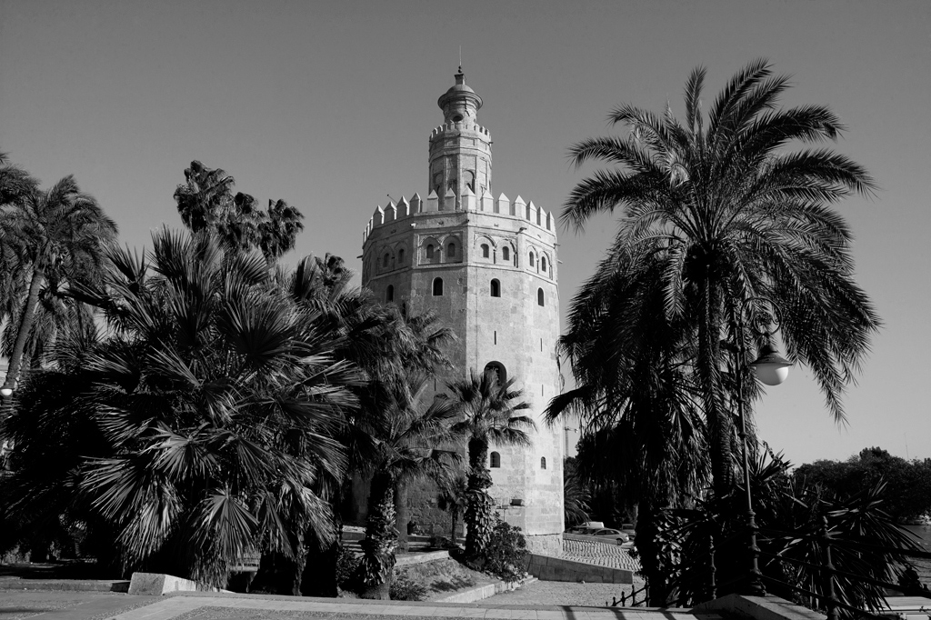
<instances>
[{"instance_id":1,"label":"dark shaggy palm between the tower and the tallest palm","mask_svg":"<svg viewBox=\"0 0 931 620\"><path fill-rule=\"evenodd\" d=\"M663 605L668 571L656 520L663 507L700 492L708 460L694 347L683 318L664 312L659 258L615 243L576 294L560 338L576 387L553 398L546 417L577 416L586 428L581 477L616 487L638 506L637 546L649 598Z\"/></svg>"}]
</instances>

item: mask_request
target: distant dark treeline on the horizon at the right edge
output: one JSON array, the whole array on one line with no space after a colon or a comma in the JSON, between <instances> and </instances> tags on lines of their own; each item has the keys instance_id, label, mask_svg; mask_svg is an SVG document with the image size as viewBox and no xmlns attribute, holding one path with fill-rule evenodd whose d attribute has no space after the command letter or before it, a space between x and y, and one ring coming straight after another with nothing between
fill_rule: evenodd
<instances>
[{"instance_id":1,"label":"distant dark treeline on the horizon at the right edge","mask_svg":"<svg viewBox=\"0 0 931 620\"><path fill-rule=\"evenodd\" d=\"M851 495L882 479L886 483L884 509L893 519L910 521L931 514L931 459L906 461L882 448L864 448L846 461L801 465L795 478L838 495Z\"/></svg>"}]
</instances>

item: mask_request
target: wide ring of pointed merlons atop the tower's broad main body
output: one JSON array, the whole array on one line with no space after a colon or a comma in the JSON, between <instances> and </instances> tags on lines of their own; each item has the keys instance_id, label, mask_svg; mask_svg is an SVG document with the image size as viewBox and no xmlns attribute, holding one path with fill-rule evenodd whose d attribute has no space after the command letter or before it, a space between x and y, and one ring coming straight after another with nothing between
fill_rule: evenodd
<instances>
[{"instance_id":1,"label":"wide ring of pointed merlons atop the tower's broad main body","mask_svg":"<svg viewBox=\"0 0 931 620\"><path fill-rule=\"evenodd\" d=\"M371 231L378 226L397 222L405 218L436 215L447 212L474 212L515 218L522 222L528 222L556 236L556 221L553 214L547 212L546 209L542 207L534 205L533 200L524 202L524 199L519 195L514 198L514 200L511 200L504 194L498 195L497 198L493 198L488 190L482 192L482 195L477 196L467 187L460 198L460 209L456 208L456 195L452 190L447 190L446 195L442 197L437 195L436 192L430 192L430 194L426 196L426 199L423 199L420 194L415 193L411 196L410 200L401 196L397 203L394 200L390 200L385 207L379 205L375 208L368 225L365 227L365 231L362 234L362 243L368 240Z\"/></svg>"}]
</instances>

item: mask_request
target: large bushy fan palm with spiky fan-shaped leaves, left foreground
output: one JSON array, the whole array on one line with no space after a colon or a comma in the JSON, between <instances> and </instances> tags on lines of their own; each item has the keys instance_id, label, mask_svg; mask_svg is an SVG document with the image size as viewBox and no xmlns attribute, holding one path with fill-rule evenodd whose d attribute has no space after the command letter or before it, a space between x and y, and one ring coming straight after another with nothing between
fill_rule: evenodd
<instances>
[{"instance_id":1,"label":"large bushy fan palm with spiky fan-shaped leaves, left foreground","mask_svg":"<svg viewBox=\"0 0 931 620\"><path fill-rule=\"evenodd\" d=\"M300 567L307 536L336 535L317 480L344 474L336 436L364 383L333 357L340 335L290 302L263 257L209 237L163 231L151 254L109 260L80 291L109 335L37 373L7 423L22 452L13 510L73 498L110 526L126 570L223 586L255 550ZM42 465L58 442L81 446L64 451L66 472Z\"/></svg>"}]
</instances>

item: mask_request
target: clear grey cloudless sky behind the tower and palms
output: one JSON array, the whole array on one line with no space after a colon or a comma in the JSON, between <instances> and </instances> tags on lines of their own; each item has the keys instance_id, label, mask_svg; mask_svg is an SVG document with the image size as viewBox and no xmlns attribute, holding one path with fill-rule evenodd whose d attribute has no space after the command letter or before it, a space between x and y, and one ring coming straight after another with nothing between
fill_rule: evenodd
<instances>
[{"instance_id":1,"label":"clear grey cloudless sky behind the tower and palms","mask_svg":"<svg viewBox=\"0 0 931 620\"><path fill-rule=\"evenodd\" d=\"M180 226L193 159L306 216L297 252L359 268L371 211L426 194L427 137L462 46L494 140L492 191L560 209L586 172L566 151L630 102L683 114L755 58L791 74L787 104L830 105L836 148L882 189L840 209L857 280L884 319L836 425L810 374L762 399L761 437L796 464L878 445L931 457L931 2L46 2L0 0L0 150L45 184L74 174L142 246ZM614 231L560 234L568 306Z\"/></svg>"}]
</instances>

